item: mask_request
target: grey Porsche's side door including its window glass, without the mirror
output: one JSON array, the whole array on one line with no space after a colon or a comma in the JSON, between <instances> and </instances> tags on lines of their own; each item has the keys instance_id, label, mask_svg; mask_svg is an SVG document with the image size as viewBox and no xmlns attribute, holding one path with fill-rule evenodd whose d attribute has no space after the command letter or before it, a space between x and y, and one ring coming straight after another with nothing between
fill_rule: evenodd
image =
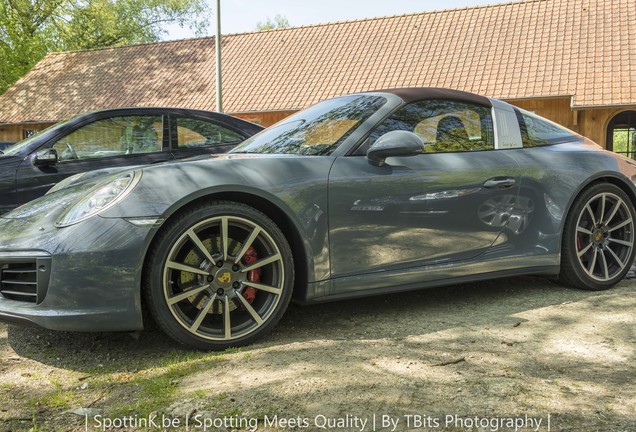
<instances>
[{"instance_id":1,"label":"grey Porsche's side door including its window glass, without the mirror","mask_svg":"<svg viewBox=\"0 0 636 432\"><path fill-rule=\"evenodd\" d=\"M368 145L406 130L422 139L421 154L388 158L384 166L370 164L364 151L335 160L332 277L467 260L497 241L519 188L516 162L495 149L492 111L460 101L408 104L371 133Z\"/></svg>"}]
</instances>

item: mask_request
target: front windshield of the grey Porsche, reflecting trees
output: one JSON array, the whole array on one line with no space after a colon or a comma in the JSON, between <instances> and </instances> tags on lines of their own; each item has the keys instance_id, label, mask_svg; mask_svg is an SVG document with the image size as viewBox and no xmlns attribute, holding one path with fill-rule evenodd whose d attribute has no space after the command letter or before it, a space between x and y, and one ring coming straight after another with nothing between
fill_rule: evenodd
<instances>
[{"instance_id":1,"label":"front windshield of the grey Porsche, reflecting trees","mask_svg":"<svg viewBox=\"0 0 636 432\"><path fill-rule=\"evenodd\" d=\"M276 123L230 153L328 155L385 103L381 96L329 99Z\"/></svg>"}]
</instances>

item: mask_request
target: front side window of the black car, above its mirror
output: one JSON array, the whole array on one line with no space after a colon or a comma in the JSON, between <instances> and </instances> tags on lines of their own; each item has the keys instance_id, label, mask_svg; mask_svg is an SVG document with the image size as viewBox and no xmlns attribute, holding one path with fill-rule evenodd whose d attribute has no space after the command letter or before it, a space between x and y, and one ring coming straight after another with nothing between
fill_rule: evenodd
<instances>
[{"instance_id":1,"label":"front side window of the black car, above its mirror","mask_svg":"<svg viewBox=\"0 0 636 432\"><path fill-rule=\"evenodd\" d=\"M53 145L60 161L101 158L162 150L160 115L112 117L72 132Z\"/></svg>"}]
</instances>

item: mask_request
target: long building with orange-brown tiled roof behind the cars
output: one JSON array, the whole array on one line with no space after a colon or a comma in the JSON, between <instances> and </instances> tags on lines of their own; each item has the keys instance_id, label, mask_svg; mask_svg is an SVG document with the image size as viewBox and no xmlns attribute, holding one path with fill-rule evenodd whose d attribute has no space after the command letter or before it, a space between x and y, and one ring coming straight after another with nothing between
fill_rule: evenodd
<instances>
[{"instance_id":1,"label":"long building with orange-brown tiled roof behind the cars","mask_svg":"<svg viewBox=\"0 0 636 432\"><path fill-rule=\"evenodd\" d=\"M344 93L449 87L611 147L613 119L636 110L636 1L527 0L232 34L222 59L224 110L265 125ZM214 61L213 37L51 53L0 96L0 141L100 108L215 110Z\"/></svg>"}]
</instances>

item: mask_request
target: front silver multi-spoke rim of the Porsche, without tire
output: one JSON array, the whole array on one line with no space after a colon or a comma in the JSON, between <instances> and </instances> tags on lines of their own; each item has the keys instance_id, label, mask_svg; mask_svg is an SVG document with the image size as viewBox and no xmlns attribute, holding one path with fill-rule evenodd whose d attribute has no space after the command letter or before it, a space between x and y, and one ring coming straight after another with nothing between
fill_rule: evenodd
<instances>
[{"instance_id":1,"label":"front silver multi-spoke rim of the Porsche, without tire","mask_svg":"<svg viewBox=\"0 0 636 432\"><path fill-rule=\"evenodd\" d=\"M249 255L254 262L247 262ZM284 275L279 247L265 228L242 217L216 216L173 244L163 268L163 295L188 332L227 342L268 321L281 300Z\"/></svg>"}]
</instances>

